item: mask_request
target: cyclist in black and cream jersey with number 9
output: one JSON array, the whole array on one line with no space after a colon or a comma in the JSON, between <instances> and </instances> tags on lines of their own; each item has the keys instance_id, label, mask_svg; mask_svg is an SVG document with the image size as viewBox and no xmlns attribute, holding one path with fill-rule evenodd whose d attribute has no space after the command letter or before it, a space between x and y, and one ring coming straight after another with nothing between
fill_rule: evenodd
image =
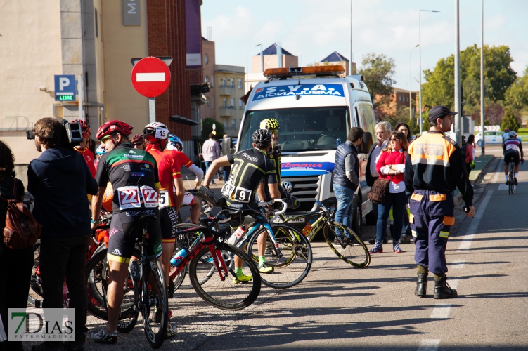
<instances>
[{"instance_id":1,"label":"cyclist in black and cream jersey with number 9","mask_svg":"<svg viewBox=\"0 0 528 351\"><path fill-rule=\"evenodd\" d=\"M215 159L207 174L205 175L205 187L209 187L210 181L218 169L222 166L231 166L231 173L226 180L226 184L222 187L222 195L226 199L228 208L233 211L240 211L239 218L231 220L231 227L236 230L240 225L244 225L244 213L252 213L257 210L255 206L255 193L258 187L264 187L262 182L268 186L268 191L271 199L279 199L281 193L277 187L276 168L271 159L267 157L267 152L271 146L271 133L267 129L257 129L253 135L253 148L239 151L236 154L228 154L226 156ZM264 193L264 190L262 190ZM264 251L266 249L266 240L259 237L259 270L263 273L271 273L273 267L266 266L264 258ZM262 264L261 264L262 263ZM235 272L237 277L234 278L235 284L249 282L252 277L244 275L242 272L242 260L235 258Z\"/></svg>"}]
</instances>

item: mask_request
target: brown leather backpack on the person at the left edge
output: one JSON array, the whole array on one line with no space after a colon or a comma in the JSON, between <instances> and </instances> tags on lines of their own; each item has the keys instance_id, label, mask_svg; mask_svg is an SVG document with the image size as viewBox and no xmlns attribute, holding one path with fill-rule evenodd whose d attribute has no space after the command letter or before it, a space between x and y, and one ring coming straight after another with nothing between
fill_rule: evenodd
<instances>
[{"instance_id":1,"label":"brown leather backpack on the person at the left edge","mask_svg":"<svg viewBox=\"0 0 528 351\"><path fill-rule=\"evenodd\" d=\"M13 186L13 195L16 197L17 179ZM27 249L32 247L40 237L42 225L34 218L33 214L24 206L23 202L16 199L0 199L7 203L6 226L4 227L4 244L9 249Z\"/></svg>"}]
</instances>

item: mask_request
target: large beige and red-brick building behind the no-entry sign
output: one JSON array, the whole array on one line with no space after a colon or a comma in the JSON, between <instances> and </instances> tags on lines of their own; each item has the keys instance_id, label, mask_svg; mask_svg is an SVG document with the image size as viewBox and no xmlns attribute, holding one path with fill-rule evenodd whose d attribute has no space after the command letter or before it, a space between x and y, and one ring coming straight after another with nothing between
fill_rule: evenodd
<instances>
[{"instance_id":1,"label":"large beige and red-brick building behind the no-entry sign","mask_svg":"<svg viewBox=\"0 0 528 351\"><path fill-rule=\"evenodd\" d=\"M191 126L199 124L198 107L207 91L201 3L49 0L27 6L0 0L0 138L15 153L18 175L25 175L27 164L39 156L25 131L42 117L80 116L91 124L92 137L112 119L127 121L141 133L149 121L148 98L131 85L131 58L146 56L173 58L172 82L155 101L156 120L179 135L193 157ZM84 95L80 115L78 100L55 100L56 74L82 77L75 83Z\"/></svg>"}]
</instances>

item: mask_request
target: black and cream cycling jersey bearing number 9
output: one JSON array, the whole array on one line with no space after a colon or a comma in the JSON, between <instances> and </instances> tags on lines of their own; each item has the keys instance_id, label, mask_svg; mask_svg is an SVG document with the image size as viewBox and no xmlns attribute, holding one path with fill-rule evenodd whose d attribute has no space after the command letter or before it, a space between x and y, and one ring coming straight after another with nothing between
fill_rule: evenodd
<instances>
[{"instance_id":1,"label":"black and cream cycling jersey bearing number 9","mask_svg":"<svg viewBox=\"0 0 528 351\"><path fill-rule=\"evenodd\" d=\"M265 151L247 149L236 154L228 154L231 166L229 178L221 193L231 208L255 209L255 192L264 180L277 183L277 172Z\"/></svg>"}]
</instances>

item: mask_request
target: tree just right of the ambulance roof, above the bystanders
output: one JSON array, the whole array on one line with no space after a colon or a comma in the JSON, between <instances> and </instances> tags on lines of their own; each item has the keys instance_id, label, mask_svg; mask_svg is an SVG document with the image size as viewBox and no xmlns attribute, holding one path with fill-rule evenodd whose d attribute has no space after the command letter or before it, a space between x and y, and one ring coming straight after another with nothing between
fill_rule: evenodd
<instances>
[{"instance_id":1,"label":"tree just right of the ambulance roof, above the bystanders","mask_svg":"<svg viewBox=\"0 0 528 351\"><path fill-rule=\"evenodd\" d=\"M396 83L393 78L395 67L394 59L387 58L384 54L368 53L363 56L361 69L359 69L358 74L365 77L365 84L371 93L374 107L386 105L390 102L392 85Z\"/></svg>"}]
</instances>

